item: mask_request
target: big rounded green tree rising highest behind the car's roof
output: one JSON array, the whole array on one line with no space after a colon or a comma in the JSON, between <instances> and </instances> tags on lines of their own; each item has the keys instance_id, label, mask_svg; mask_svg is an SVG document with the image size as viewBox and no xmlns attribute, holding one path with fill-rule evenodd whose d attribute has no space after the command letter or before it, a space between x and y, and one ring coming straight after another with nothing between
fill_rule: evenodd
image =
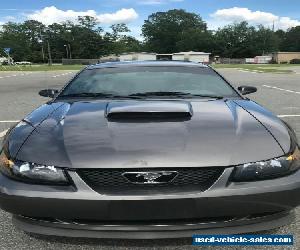
<instances>
[{"instance_id":1,"label":"big rounded green tree rising highest behind the car's roof","mask_svg":"<svg viewBox=\"0 0 300 250\"><path fill-rule=\"evenodd\" d=\"M199 15L174 9L151 14L142 26L142 34L149 51L173 53L199 47L206 38L207 26ZM195 35L196 41L191 38ZM193 44L188 45L190 42Z\"/></svg>"}]
</instances>

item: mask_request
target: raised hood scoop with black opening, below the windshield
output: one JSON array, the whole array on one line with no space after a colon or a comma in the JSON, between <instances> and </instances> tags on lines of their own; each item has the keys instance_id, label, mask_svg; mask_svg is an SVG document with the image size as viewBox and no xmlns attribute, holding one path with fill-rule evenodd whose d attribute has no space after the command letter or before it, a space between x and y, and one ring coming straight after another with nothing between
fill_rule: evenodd
<instances>
[{"instance_id":1,"label":"raised hood scoop with black opening, below the windshield","mask_svg":"<svg viewBox=\"0 0 300 250\"><path fill-rule=\"evenodd\" d=\"M192 106L184 101L125 101L108 103L105 116L109 121L185 121L193 115Z\"/></svg>"}]
</instances>

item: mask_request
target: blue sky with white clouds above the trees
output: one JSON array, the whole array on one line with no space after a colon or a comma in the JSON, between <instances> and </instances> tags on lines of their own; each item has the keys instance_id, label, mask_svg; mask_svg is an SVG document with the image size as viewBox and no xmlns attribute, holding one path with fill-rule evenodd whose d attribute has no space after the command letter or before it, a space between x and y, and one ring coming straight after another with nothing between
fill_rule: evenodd
<instances>
[{"instance_id":1,"label":"blue sky with white clouds above the trees","mask_svg":"<svg viewBox=\"0 0 300 250\"><path fill-rule=\"evenodd\" d=\"M90 15L105 29L126 23L131 35L141 40L144 20L169 9L197 13L209 29L240 21L270 28L274 23L275 29L283 30L300 25L299 0L0 0L0 25L27 19L51 24Z\"/></svg>"}]
</instances>

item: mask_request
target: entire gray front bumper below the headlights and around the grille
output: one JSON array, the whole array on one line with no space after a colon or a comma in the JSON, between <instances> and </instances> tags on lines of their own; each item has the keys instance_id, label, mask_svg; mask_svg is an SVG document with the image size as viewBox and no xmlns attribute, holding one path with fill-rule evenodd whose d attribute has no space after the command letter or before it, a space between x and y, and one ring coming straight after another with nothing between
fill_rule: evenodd
<instances>
[{"instance_id":1,"label":"entire gray front bumper below the headlights and around the grille","mask_svg":"<svg viewBox=\"0 0 300 250\"><path fill-rule=\"evenodd\" d=\"M204 192L101 195L73 171L74 186L16 182L0 175L0 206L25 231L102 238L185 237L193 233L267 230L291 221L300 203L300 171L266 181L232 183L227 168Z\"/></svg>"}]
</instances>

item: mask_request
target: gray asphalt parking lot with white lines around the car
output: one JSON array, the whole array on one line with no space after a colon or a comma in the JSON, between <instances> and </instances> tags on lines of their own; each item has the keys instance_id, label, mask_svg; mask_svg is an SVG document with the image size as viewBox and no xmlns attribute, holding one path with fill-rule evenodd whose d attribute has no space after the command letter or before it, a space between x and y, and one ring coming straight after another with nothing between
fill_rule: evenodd
<instances>
[{"instance_id":1,"label":"gray asphalt parking lot with white lines around the car","mask_svg":"<svg viewBox=\"0 0 300 250\"><path fill-rule=\"evenodd\" d=\"M299 67L300 69L300 67ZM299 74L270 74L219 69L234 86L252 85L258 92L249 95L286 120L300 138L300 70ZM45 88L61 88L76 72L0 72L0 137L15 121L46 102L38 95ZM11 216L0 210L0 249L192 249L191 239L176 240L96 240L62 237L32 237L11 224ZM289 225L268 233L293 234L296 241L289 249L299 249L300 209ZM203 248L204 249L204 248ZM205 249L214 249L205 248ZM217 249L229 249L218 247ZM249 249L230 247L230 249ZM270 247L251 247L270 249ZM273 249L282 249L280 247Z\"/></svg>"}]
</instances>

